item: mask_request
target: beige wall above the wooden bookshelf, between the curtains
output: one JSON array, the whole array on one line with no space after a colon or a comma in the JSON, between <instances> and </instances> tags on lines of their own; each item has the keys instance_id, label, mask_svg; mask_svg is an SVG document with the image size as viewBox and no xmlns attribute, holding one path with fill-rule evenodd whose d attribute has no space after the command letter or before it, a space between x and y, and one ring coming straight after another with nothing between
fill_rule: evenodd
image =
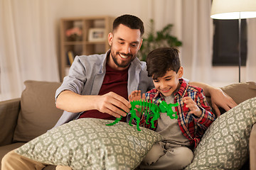
<instances>
[{"instance_id":1,"label":"beige wall above the wooden bookshelf, between the curtains","mask_svg":"<svg viewBox=\"0 0 256 170\"><path fill-rule=\"evenodd\" d=\"M60 56L59 46L59 25L60 18L76 16L113 16L117 17L124 13L129 13L146 23L149 21L146 4L151 0L53 0L50 1L49 12L55 30L55 46L57 47L58 56ZM145 24L146 25L146 24ZM146 29L146 28L145 28ZM59 60L59 59L58 59Z\"/></svg>"}]
</instances>

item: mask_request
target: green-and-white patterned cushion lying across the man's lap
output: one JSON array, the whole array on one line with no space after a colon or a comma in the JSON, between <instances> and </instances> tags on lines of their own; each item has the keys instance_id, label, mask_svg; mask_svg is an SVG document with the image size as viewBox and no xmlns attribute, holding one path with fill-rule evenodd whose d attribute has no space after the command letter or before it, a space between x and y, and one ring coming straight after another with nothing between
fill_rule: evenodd
<instances>
[{"instance_id":1,"label":"green-and-white patterned cushion lying across the man's lap","mask_svg":"<svg viewBox=\"0 0 256 170\"><path fill-rule=\"evenodd\" d=\"M82 118L61 125L19 147L16 152L38 162L73 169L134 169L155 142L158 133L112 120Z\"/></svg>"}]
</instances>

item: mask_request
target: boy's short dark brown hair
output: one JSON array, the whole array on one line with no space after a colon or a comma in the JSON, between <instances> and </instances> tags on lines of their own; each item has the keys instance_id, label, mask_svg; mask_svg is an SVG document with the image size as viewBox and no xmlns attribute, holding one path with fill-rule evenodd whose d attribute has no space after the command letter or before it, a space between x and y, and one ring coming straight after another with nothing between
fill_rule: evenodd
<instances>
[{"instance_id":1,"label":"boy's short dark brown hair","mask_svg":"<svg viewBox=\"0 0 256 170\"><path fill-rule=\"evenodd\" d=\"M153 76L153 79L163 77L166 72L171 70L178 73L180 67L181 61L176 47L160 47L149 52L146 57L146 70L148 76Z\"/></svg>"}]
</instances>

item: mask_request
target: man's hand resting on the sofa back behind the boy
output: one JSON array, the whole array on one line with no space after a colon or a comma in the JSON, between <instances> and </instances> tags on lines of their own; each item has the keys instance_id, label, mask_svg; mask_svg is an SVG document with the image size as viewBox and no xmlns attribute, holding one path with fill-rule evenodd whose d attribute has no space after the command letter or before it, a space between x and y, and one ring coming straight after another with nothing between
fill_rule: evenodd
<instances>
[{"instance_id":1,"label":"man's hand resting on the sofa back behind the boy","mask_svg":"<svg viewBox=\"0 0 256 170\"><path fill-rule=\"evenodd\" d=\"M232 98L230 98L230 96L228 96L228 94L225 94L225 92L220 88L209 89L209 93L213 109L215 110L215 113L218 117L220 116L220 110L218 107L224 108L225 111L229 111L230 108L238 105Z\"/></svg>"}]
</instances>

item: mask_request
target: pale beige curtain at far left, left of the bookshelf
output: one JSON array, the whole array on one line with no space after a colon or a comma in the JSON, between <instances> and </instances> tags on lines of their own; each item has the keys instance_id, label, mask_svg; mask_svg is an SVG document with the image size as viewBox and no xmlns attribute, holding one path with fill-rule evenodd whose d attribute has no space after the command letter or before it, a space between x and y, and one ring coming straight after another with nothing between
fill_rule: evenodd
<instances>
[{"instance_id":1,"label":"pale beige curtain at far left, left of the bookshelf","mask_svg":"<svg viewBox=\"0 0 256 170\"><path fill-rule=\"evenodd\" d=\"M0 1L0 101L18 98L23 81L59 81L50 0Z\"/></svg>"}]
</instances>

